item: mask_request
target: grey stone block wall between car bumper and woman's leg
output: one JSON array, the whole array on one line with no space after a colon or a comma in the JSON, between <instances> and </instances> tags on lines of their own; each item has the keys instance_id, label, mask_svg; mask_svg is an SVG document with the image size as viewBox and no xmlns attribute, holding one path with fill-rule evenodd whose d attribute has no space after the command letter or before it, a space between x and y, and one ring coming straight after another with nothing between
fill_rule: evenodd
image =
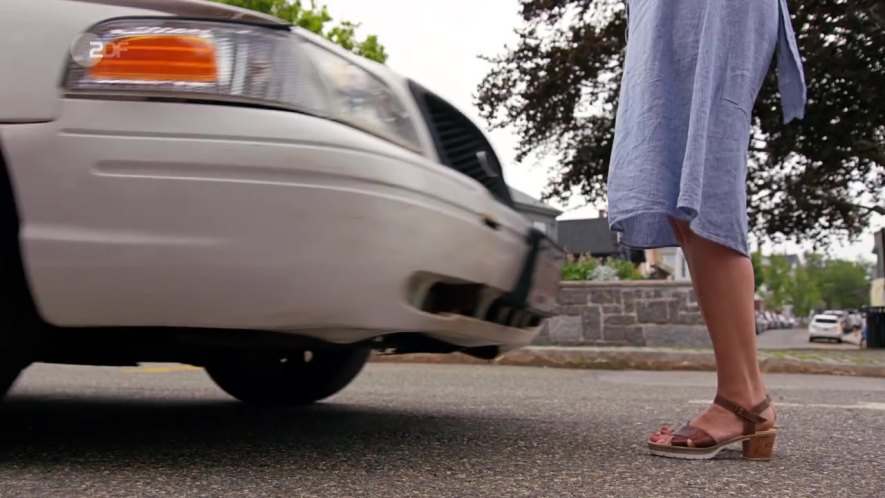
<instances>
[{"instance_id":1,"label":"grey stone block wall between car bumper and woman's leg","mask_svg":"<svg viewBox=\"0 0 885 498\"><path fill-rule=\"evenodd\" d=\"M709 347L688 282L563 282L537 345Z\"/></svg>"}]
</instances>

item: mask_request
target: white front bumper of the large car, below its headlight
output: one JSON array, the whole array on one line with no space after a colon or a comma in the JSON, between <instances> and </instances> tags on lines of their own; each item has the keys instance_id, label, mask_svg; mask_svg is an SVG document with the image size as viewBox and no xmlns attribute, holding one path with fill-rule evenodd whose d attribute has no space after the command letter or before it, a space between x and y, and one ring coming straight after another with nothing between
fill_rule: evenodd
<instances>
[{"instance_id":1,"label":"white front bumper of the large car, below its headlight","mask_svg":"<svg viewBox=\"0 0 885 498\"><path fill-rule=\"evenodd\" d=\"M2 126L0 141L52 324L505 348L537 333L418 308L421 278L516 288L528 223L473 180L339 123L66 99L59 120Z\"/></svg>"}]
</instances>

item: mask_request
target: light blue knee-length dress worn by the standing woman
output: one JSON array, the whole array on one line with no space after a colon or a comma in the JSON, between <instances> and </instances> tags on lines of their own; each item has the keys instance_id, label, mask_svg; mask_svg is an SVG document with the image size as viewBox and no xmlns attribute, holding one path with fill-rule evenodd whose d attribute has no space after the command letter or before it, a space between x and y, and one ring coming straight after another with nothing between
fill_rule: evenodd
<instances>
[{"instance_id":1,"label":"light blue knee-length dress worn by the standing woman","mask_svg":"<svg viewBox=\"0 0 885 498\"><path fill-rule=\"evenodd\" d=\"M675 246L668 217L748 254L753 104L777 53L784 121L806 88L786 0L628 0L609 223L632 248Z\"/></svg>"}]
</instances>

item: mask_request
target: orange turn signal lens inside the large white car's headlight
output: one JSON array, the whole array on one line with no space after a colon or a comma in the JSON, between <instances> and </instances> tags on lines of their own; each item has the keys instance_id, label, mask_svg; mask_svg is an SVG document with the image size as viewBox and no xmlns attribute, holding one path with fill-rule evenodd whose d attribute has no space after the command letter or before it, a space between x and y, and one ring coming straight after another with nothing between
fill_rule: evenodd
<instances>
[{"instance_id":1,"label":"orange turn signal lens inside the large white car's headlight","mask_svg":"<svg viewBox=\"0 0 885 498\"><path fill-rule=\"evenodd\" d=\"M99 79L216 83L215 46L198 36L123 36L106 42L88 69Z\"/></svg>"}]
</instances>

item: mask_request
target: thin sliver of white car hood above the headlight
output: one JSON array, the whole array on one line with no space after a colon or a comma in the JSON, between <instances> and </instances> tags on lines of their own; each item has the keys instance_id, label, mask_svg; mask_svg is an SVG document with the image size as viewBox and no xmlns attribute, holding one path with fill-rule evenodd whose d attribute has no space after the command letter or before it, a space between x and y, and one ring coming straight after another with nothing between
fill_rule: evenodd
<instances>
[{"instance_id":1,"label":"thin sliver of white car hood above the headlight","mask_svg":"<svg viewBox=\"0 0 885 498\"><path fill-rule=\"evenodd\" d=\"M286 27L289 23L274 16L253 10L232 7L208 0L74 0L79 3L112 5L114 7L131 7L153 10L181 17L200 19L218 19L222 21L239 21L269 26Z\"/></svg>"}]
</instances>

